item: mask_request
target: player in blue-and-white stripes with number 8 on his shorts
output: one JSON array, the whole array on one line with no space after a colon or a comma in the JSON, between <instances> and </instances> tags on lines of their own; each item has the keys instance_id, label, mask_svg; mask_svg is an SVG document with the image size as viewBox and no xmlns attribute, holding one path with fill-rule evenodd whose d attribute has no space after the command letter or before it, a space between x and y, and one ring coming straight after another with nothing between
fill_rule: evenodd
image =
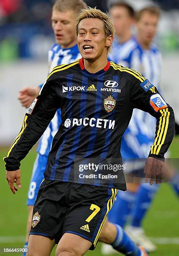
<instances>
[{"instance_id":1,"label":"player in blue-and-white stripes with number 8 on his shorts","mask_svg":"<svg viewBox=\"0 0 179 256\"><path fill-rule=\"evenodd\" d=\"M69 64L80 59L77 46L77 38L75 31L75 20L77 13L86 7L82 0L57 0L52 9L52 28L56 39L56 44L49 51L49 72L55 66L60 64ZM40 92L42 85L38 87L25 87L20 90L18 98L23 106L28 108L35 97ZM28 224L26 231L26 243L28 244L29 230L31 228L33 205L37 197L38 189L42 181L43 172L46 168L47 158L51 150L52 140L58 131L61 123L61 111L57 110L54 118L51 120L48 128L43 133L40 144L38 146L36 161L33 167L30 187L28 191ZM25 255L25 253L24 253Z\"/></svg>"}]
</instances>

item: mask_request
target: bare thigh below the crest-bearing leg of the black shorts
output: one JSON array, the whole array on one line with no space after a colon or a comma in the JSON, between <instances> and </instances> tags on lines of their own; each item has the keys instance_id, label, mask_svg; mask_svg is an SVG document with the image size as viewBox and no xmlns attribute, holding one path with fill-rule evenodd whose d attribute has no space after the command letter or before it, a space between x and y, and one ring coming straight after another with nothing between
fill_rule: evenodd
<instances>
[{"instance_id":1,"label":"bare thigh below the crest-bearing leg of the black shorts","mask_svg":"<svg viewBox=\"0 0 179 256\"><path fill-rule=\"evenodd\" d=\"M55 240L44 236L30 235L27 256L49 256L54 248Z\"/></svg>"}]
</instances>

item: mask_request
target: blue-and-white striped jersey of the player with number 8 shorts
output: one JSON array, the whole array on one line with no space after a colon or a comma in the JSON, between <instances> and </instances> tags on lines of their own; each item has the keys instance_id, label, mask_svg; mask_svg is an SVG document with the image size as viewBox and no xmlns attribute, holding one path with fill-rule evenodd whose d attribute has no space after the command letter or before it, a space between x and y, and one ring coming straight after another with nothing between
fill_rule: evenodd
<instances>
[{"instance_id":1,"label":"blue-and-white striped jersey of the player with number 8 shorts","mask_svg":"<svg viewBox=\"0 0 179 256\"><path fill-rule=\"evenodd\" d=\"M81 54L79 53L77 44L68 49L62 49L59 44L54 44L54 46L49 51L49 72L57 65L70 64L80 58ZM37 152L39 154L48 156L51 150L53 138L57 133L60 124L61 111L57 110L54 118L51 120L46 131L43 133L41 141L38 145Z\"/></svg>"}]
</instances>

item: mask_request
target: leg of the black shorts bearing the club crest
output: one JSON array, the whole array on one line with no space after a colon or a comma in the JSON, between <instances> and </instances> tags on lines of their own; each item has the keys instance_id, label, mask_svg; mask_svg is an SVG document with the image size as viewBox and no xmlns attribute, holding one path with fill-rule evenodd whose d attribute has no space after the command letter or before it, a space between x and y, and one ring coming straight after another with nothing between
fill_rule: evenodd
<instances>
[{"instance_id":1,"label":"leg of the black shorts bearing the club crest","mask_svg":"<svg viewBox=\"0 0 179 256\"><path fill-rule=\"evenodd\" d=\"M62 227L67 211L66 187L61 182L45 180L38 191L33 207L30 235L56 238L62 236Z\"/></svg>"}]
</instances>

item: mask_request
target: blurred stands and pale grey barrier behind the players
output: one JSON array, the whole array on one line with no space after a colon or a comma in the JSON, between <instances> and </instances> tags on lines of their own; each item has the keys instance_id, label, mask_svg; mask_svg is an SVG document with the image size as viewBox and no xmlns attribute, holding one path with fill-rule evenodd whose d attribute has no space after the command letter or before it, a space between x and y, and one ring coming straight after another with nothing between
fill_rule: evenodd
<instances>
[{"instance_id":1,"label":"blurred stands and pale grey barrier behind the players","mask_svg":"<svg viewBox=\"0 0 179 256\"><path fill-rule=\"evenodd\" d=\"M113 1L86 0L86 3L106 11ZM153 4L162 9L155 39L163 54L161 89L167 101L172 103L179 122L179 0L127 2L135 10ZM54 44L53 3L54 0L0 0L0 146L10 144L20 127L24 109L17 100L18 91L46 79L47 54Z\"/></svg>"}]
</instances>

